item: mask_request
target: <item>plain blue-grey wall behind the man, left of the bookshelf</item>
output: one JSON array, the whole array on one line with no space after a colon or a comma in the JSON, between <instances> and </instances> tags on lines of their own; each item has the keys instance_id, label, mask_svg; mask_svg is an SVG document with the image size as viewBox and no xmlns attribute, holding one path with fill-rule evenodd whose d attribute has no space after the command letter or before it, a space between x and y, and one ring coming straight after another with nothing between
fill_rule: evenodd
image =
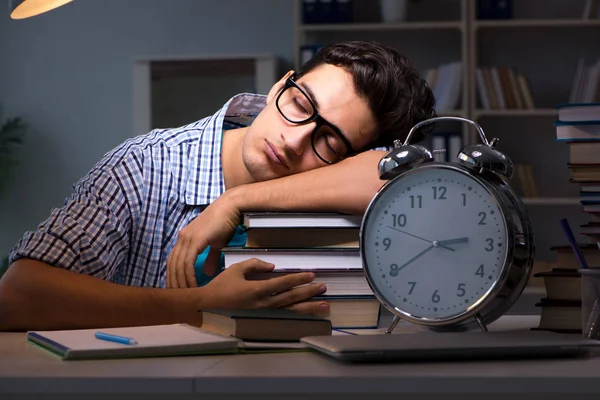
<instances>
[{"instance_id":1,"label":"plain blue-grey wall behind the man, left of the bookshelf","mask_svg":"<svg viewBox=\"0 0 600 400\"><path fill-rule=\"evenodd\" d=\"M0 258L132 136L135 58L273 53L291 64L292 30L292 0L74 0L20 21L0 1L0 102L31 127L0 199Z\"/></svg>"}]
</instances>

